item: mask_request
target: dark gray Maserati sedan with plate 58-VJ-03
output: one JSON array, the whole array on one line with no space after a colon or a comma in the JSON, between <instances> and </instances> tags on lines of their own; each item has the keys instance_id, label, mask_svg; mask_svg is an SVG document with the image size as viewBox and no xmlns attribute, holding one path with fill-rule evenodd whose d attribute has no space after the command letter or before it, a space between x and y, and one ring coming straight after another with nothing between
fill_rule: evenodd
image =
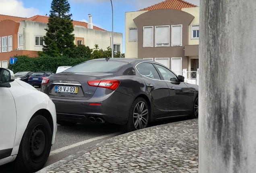
<instances>
[{"instance_id":1,"label":"dark gray Maserati sedan with plate 58-VJ-03","mask_svg":"<svg viewBox=\"0 0 256 173\"><path fill-rule=\"evenodd\" d=\"M130 132L173 117L198 118L198 86L151 60L101 58L44 78L57 123L114 123Z\"/></svg>"}]
</instances>

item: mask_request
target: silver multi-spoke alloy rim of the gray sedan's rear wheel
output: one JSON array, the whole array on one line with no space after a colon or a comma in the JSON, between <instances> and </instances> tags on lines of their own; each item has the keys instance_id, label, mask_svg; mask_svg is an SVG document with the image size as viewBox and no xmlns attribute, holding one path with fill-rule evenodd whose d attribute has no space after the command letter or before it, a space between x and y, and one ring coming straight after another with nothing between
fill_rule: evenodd
<instances>
[{"instance_id":1,"label":"silver multi-spoke alloy rim of the gray sedan's rear wheel","mask_svg":"<svg viewBox=\"0 0 256 173\"><path fill-rule=\"evenodd\" d=\"M147 104L144 101L139 101L134 107L133 111L133 123L134 127L138 129L144 129L149 120L149 111Z\"/></svg>"}]
</instances>

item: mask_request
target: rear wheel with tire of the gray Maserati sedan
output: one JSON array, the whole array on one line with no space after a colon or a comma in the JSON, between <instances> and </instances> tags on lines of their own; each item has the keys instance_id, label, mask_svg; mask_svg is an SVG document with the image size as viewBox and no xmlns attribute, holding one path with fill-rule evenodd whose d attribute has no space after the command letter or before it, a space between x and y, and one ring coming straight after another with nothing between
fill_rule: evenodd
<instances>
[{"instance_id":1,"label":"rear wheel with tire of the gray Maserati sedan","mask_svg":"<svg viewBox=\"0 0 256 173\"><path fill-rule=\"evenodd\" d=\"M144 129L149 123L150 110L147 102L143 98L137 98L132 104L128 122L125 125L120 125L122 131L131 132L139 129Z\"/></svg>"}]
</instances>

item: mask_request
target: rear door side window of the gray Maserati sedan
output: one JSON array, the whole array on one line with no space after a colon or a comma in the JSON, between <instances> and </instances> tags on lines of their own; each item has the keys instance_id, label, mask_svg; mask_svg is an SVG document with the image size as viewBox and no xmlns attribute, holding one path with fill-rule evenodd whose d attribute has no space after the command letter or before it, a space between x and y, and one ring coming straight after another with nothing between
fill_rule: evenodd
<instances>
[{"instance_id":1,"label":"rear door side window of the gray Maserati sedan","mask_svg":"<svg viewBox=\"0 0 256 173\"><path fill-rule=\"evenodd\" d=\"M138 69L140 74L143 76L146 76L148 78L153 78L153 79L159 79L159 80L161 79L157 70L151 63L143 62L138 64L136 68Z\"/></svg>"}]
</instances>

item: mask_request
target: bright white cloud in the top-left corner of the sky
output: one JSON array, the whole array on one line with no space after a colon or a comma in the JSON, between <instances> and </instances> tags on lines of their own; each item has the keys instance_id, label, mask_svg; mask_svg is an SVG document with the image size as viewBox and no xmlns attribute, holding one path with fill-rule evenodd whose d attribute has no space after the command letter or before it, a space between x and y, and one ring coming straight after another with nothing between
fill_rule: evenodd
<instances>
[{"instance_id":1,"label":"bright white cloud in the top-left corner of the sky","mask_svg":"<svg viewBox=\"0 0 256 173\"><path fill-rule=\"evenodd\" d=\"M0 0L0 14L18 17L31 17L39 14L36 8L25 8L20 0Z\"/></svg>"}]
</instances>

